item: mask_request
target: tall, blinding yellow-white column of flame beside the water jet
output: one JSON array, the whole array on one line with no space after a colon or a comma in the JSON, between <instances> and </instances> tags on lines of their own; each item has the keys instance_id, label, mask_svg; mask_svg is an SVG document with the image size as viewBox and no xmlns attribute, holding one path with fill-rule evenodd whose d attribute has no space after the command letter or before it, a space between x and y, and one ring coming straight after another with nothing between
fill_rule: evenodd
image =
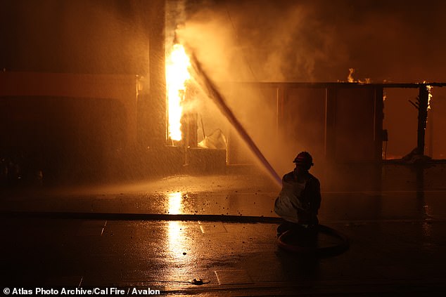
<instances>
[{"instance_id":1,"label":"tall, blinding yellow-white column of flame beside the water jet","mask_svg":"<svg viewBox=\"0 0 446 297\"><path fill-rule=\"evenodd\" d=\"M191 78L188 68L191 61L184 51L184 46L174 44L172 52L166 60L167 105L169 119L169 137L181 140L181 114L186 91L186 81Z\"/></svg>"}]
</instances>

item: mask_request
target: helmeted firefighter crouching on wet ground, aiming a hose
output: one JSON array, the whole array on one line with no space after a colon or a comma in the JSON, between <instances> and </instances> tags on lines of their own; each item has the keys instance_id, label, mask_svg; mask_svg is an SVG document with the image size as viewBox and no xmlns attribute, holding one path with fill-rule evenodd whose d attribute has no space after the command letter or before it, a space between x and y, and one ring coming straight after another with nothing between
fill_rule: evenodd
<instances>
[{"instance_id":1,"label":"helmeted firefighter crouching on wet ground, aiming a hose","mask_svg":"<svg viewBox=\"0 0 446 297\"><path fill-rule=\"evenodd\" d=\"M294 159L295 169L282 178L282 189L274 203L274 211L283 218L277 228L280 236L287 230L299 234L314 233L319 220L321 205L320 183L310 172L313 158L308 152L300 152Z\"/></svg>"}]
</instances>

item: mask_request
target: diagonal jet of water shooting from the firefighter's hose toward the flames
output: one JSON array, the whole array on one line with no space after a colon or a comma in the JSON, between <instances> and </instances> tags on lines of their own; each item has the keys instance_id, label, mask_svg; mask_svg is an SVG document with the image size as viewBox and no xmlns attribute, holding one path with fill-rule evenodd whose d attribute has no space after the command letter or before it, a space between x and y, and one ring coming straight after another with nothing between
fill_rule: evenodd
<instances>
[{"instance_id":1,"label":"diagonal jet of water shooting from the firefighter's hose toward the flames","mask_svg":"<svg viewBox=\"0 0 446 297\"><path fill-rule=\"evenodd\" d=\"M214 102L217 104L217 107L219 107L219 110L224 114L224 116L229 120L229 122L236 128L236 131L238 132L239 136L248 144L248 147L250 148L251 152L255 154L255 157L260 161L260 163L265 166L265 169L267 169L269 175L274 179L277 185L281 185L281 178L279 174L276 173L274 168L269 164L269 161L265 156L262 154L260 149L255 144L253 138L251 138L246 131L246 129L243 127L240 121L236 118L234 112L229 108L226 101L224 100L222 94L219 93L217 90L215 84L212 82L212 80L208 77L208 74L203 70L203 67L201 67L200 62L198 62L196 55L193 53L193 51L189 50L189 56L191 58L191 65L196 72L195 78L198 81L198 84L203 88L203 90L207 91L208 96L214 100Z\"/></svg>"}]
</instances>

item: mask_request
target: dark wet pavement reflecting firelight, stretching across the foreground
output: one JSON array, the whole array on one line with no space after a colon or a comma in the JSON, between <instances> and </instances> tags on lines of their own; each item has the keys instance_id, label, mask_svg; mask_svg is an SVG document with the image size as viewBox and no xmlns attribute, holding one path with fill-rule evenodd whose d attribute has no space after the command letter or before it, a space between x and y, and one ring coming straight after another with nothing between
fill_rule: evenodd
<instances>
[{"instance_id":1,"label":"dark wet pavement reflecting firelight, stretching across the foreground","mask_svg":"<svg viewBox=\"0 0 446 297\"><path fill-rule=\"evenodd\" d=\"M266 176L246 174L4 191L0 289L117 287L126 296L148 287L183 296L445 293L445 189L323 189L321 224L350 239L348 251L331 257L277 246L278 192ZM205 284L191 284L194 278Z\"/></svg>"}]
</instances>

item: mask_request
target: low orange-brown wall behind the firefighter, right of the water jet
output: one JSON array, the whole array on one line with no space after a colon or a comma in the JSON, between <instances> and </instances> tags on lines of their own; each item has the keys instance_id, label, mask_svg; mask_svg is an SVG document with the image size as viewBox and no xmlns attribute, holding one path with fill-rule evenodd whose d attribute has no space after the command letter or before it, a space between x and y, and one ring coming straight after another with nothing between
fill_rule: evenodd
<instances>
[{"instance_id":1,"label":"low orange-brown wall behind the firefighter, right of the water jet","mask_svg":"<svg viewBox=\"0 0 446 297\"><path fill-rule=\"evenodd\" d=\"M250 98L254 103L234 110L280 176L293 169L295 154L305 150L314 158L312 172L325 185L371 185L376 181L382 154L381 86L265 83L248 84L248 88L253 85L262 90L262 96L254 95ZM265 91L267 87L269 91ZM234 135L236 131L231 134L236 138ZM231 141L228 150L231 164L241 160L255 163L240 140ZM359 173L364 170L367 175Z\"/></svg>"}]
</instances>

